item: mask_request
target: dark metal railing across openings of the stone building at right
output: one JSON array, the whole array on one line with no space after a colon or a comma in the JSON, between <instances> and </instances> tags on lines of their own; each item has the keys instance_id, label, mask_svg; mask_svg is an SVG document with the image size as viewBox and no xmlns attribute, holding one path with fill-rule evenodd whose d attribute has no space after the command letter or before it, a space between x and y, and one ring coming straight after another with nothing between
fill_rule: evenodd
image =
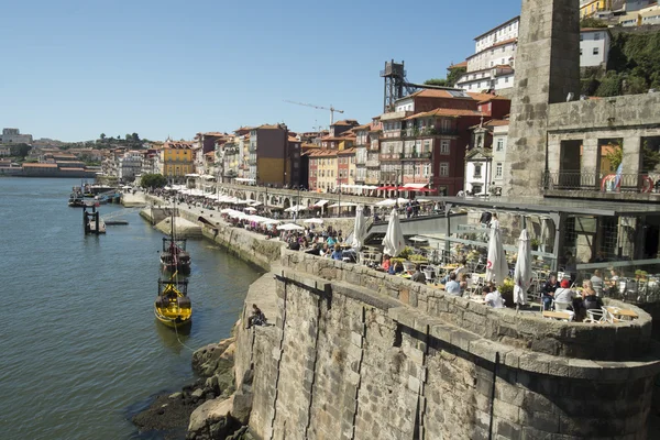
<instances>
[{"instance_id":1,"label":"dark metal railing across openings of the stone building at right","mask_svg":"<svg viewBox=\"0 0 660 440\"><path fill-rule=\"evenodd\" d=\"M653 193L660 190L660 174L600 174L582 172L546 173L547 190L598 193Z\"/></svg>"}]
</instances>

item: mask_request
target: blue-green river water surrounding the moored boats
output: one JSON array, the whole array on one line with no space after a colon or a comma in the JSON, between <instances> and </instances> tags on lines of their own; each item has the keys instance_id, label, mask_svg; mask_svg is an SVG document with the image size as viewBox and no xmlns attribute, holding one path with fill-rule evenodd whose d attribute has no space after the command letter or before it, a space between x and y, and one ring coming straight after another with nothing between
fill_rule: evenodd
<instances>
[{"instance_id":1,"label":"blue-green river water surrounding the moored boats","mask_svg":"<svg viewBox=\"0 0 660 440\"><path fill-rule=\"evenodd\" d=\"M76 179L0 178L0 437L141 438L131 411L189 383L191 352L155 321L162 234L129 226L86 237L67 206ZM188 241L197 349L227 338L258 273L210 241ZM153 437L153 436L150 436Z\"/></svg>"}]
</instances>

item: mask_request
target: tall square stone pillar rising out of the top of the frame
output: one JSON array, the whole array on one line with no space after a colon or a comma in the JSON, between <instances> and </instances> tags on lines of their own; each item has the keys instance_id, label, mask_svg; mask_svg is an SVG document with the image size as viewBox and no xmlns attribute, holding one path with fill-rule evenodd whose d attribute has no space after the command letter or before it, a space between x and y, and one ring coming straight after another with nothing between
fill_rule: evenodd
<instances>
[{"instance_id":1,"label":"tall square stone pillar rising out of the top of the frame","mask_svg":"<svg viewBox=\"0 0 660 440\"><path fill-rule=\"evenodd\" d=\"M504 194L540 196L547 161L548 105L580 91L576 0L524 0Z\"/></svg>"}]
</instances>

